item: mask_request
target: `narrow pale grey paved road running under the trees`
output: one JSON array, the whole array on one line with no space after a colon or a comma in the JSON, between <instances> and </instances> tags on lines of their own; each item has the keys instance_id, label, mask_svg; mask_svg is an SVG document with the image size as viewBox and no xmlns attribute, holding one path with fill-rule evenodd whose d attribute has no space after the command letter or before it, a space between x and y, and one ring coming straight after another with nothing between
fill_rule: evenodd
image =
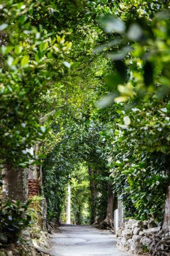
<instances>
[{"instance_id":1,"label":"narrow pale grey paved road running under the trees","mask_svg":"<svg viewBox=\"0 0 170 256\"><path fill-rule=\"evenodd\" d=\"M93 226L65 225L51 240L54 256L128 256L116 249L116 236Z\"/></svg>"}]
</instances>

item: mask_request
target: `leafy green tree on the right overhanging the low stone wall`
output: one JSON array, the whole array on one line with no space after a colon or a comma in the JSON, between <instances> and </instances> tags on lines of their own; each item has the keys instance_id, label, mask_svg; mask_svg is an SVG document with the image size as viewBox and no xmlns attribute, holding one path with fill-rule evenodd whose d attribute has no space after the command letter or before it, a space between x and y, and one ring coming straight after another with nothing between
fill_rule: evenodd
<instances>
[{"instance_id":1,"label":"leafy green tree on the right overhanging the low stone wall","mask_svg":"<svg viewBox=\"0 0 170 256\"><path fill-rule=\"evenodd\" d=\"M125 5L122 7L127 8ZM128 20L127 25L111 16L103 20L105 30L112 36L114 35L114 38L120 34L123 41L120 40L117 46L118 50L114 54L110 53L108 45L108 57L117 66L117 72L108 77L108 86L112 85L108 90L112 92L108 95L108 98L111 99L108 104L113 101L117 103L113 107L117 114L114 116L114 132L108 131L107 134L103 132L101 137L110 137L112 141L110 142L115 145L114 150L110 154L106 153L105 156L108 156L112 168L115 189L117 188L116 191L122 194L126 205L130 205L128 195L132 200L131 204L136 208L136 214L139 214L138 217L143 215L143 218L148 218L151 214L157 220L163 220L163 201L165 191L168 191L169 187L169 174L166 174L169 155L167 149L169 143L165 142L165 137L168 136L167 130L167 135L164 135L164 127L169 120L167 110L169 88L166 87L165 82L165 80L169 81L167 61L165 60L165 52L169 48L165 39L169 34L166 29L169 18L167 12L162 11L153 19L155 8L146 11L146 7L142 7L140 3L136 3L135 7L128 5L127 9L136 7L140 7L136 12L137 17L128 17L126 12L120 15L122 20ZM167 8L166 3L159 5L160 10L164 8ZM132 15L131 11L129 15ZM121 36L121 30L114 31L116 21L124 30L124 36L128 44L132 45L132 49L127 48L127 41L125 41L126 47L122 48L124 36ZM163 33L160 33L160 26L165 28ZM134 38L133 35L137 34L138 36ZM161 51L156 46L160 42L163 46ZM103 51L102 47L100 51ZM155 61L156 59L157 61ZM126 72L126 75L122 70ZM164 78L162 79L162 77ZM104 98L103 102L106 100L107 98ZM99 104L102 105L103 102L101 101ZM122 122L120 122L121 116ZM161 162L161 168L157 166L157 162ZM122 184L122 178L124 178L124 187L120 189L118 186ZM137 184L136 181L138 181ZM159 193L159 186L163 193ZM158 191L158 194L154 192L155 190ZM169 195L167 195L168 197ZM157 211L156 205L160 205L159 211ZM134 214L133 207L132 213Z\"/></svg>"}]
</instances>

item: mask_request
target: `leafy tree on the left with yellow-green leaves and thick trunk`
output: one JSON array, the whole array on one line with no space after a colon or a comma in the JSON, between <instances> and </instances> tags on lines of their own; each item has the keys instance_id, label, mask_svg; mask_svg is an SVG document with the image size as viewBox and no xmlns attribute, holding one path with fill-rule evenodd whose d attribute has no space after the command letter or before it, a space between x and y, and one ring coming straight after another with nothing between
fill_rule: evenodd
<instances>
[{"instance_id":1,"label":"leafy tree on the left with yellow-green leaves and thick trunk","mask_svg":"<svg viewBox=\"0 0 170 256\"><path fill-rule=\"evenodd\" d=\"M40 104L52 81L50 65L71 48L65 36L50 37L42 26L32 26L29 13L39 4L15 1L2 4L0 158L4 166L4 194L22 200L26 200L27 191L27 174L26 170L22 173L22 168L34 159L27 149L46 134L45 127L40 125ZM18 191L13 191L14 176L18 179Z\"/></svg>"}]
</instances>

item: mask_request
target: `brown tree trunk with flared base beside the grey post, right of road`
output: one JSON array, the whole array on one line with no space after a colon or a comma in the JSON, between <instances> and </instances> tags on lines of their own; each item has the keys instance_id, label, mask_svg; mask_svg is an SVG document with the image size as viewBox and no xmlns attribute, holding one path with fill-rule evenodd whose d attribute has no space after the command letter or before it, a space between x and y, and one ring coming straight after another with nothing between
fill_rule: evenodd
<instances>
[{"instance_id":1,"label":"brown tree trunk with flared base beside the grey post, right of road","mask_svg":"<svg viewBox=\"0 0 170 256\"><path fill-rule=\"evenodd\" d=\"M114 229L114 194L112 191L112 184L109 183L108 189L108 207L105 220L100 224L101 228Z\"/></svg>"}]
</instances>

